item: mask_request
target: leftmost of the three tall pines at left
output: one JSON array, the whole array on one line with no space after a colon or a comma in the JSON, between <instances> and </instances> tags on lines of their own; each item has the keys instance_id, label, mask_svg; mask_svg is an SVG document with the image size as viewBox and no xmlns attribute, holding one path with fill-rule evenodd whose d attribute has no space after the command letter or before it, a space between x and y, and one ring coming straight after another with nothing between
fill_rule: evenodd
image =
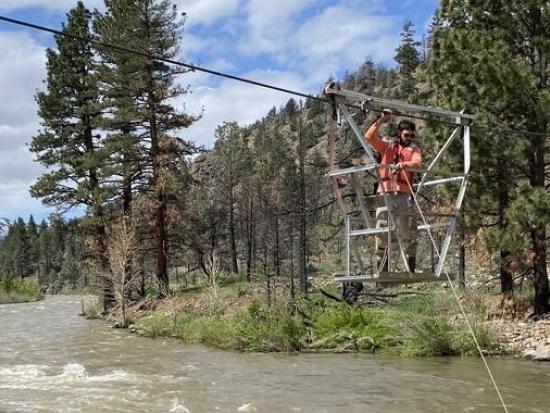
<instances>
[{"instance_id":1,"label":"leftmost of the three tall pines at left","mask_svg":"<svg viewBox=\"0 0 550 413\"><path fill-rule=\"evenodd\" d=\"M43 129L33 138L30 150L51 172L38 178L31 194L62 211L88 208L97 259L108 272L103 204L109 192L100 174L105 152L98 133L102 112L97 62L88 40L90 19L90 12L78 2L67 14L63 31L79 37L57 35L57 51L47 51L46 91L36 95ZM109 307L112 288L106 284L103 290Z\"/></svg>"}]
</instances>

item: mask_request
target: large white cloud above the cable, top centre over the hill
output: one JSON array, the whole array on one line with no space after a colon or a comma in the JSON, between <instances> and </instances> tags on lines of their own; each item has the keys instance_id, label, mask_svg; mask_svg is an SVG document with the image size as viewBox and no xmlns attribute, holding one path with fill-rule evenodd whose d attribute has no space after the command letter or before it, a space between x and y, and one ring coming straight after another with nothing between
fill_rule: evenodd
<instances>
[{"instance_id":1,"label":"large white cloud above the cable, top centre over the hill","mask_svg":"<svg viewBox=\"0 0 550 413\"><path fill-rule=\"evenodd\" d=\"M358 7L350 1L330 7L318 6L318 0L250 0L248 28L239 39L239 51L245 56L269 56L287 69L322 81L334 71L353 70L365 57L389 61L399 41L401 18L374 14L372 7ZM315 9L315 11L312 11ZM313 13L306 21L304 10Z\"/></svg>"}]
</instances>

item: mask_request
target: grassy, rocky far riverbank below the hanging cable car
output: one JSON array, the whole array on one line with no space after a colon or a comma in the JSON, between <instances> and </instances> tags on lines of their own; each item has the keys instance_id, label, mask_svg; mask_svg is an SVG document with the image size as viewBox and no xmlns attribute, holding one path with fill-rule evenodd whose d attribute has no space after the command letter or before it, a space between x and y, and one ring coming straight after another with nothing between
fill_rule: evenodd
<instances>
[{"instance_id":1,"label":"grassy, rocky far riverbank below the hanging cable car","mask_svg":"<svg viewBox=\"0 0 550 413\"><path fill-rule=\"evenodd\" d=\"M328 280L313 291L307 300L289 305L284 288L275 288L268 306L262 284L233 279L214 290L188 288L167 300L149 299L131 306L130 329L147 337L237 351L478 354L445 286L370 289L361 297L361 306L353 307L329 297L338 292ZM506 303L498 295L470 293L461 301L485 354L545 359L550 326L546 319L527 321L527 313L519 314L520 308L527 308L519 299L514 319L507 318Z\"/></svg>"}]
</instances>

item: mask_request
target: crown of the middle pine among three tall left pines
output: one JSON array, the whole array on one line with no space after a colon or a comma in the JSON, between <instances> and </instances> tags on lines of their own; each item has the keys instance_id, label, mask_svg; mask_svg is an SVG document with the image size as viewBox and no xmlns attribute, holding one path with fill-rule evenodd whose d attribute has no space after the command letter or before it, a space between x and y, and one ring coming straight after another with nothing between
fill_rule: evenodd
<instances>
[{"instance_id":1,"label":"crown of the middle pine among three tall left pines","mask_svg":"<svg viewBox=\"0 0 550 413\"><path fill-rule=\"evenodd\" d=\"M104 43L128 45L137 36L137 4L127 0L106 0L106 12L94 14L94 30ZM110 154L105 174L111 177L115 193L122 200L122 212L128 216L134 192L147 185L142 170L146 155L140 144L140 111L145 102L140 99L143 89L143 66L140 59L130 53L109 47L98 47L101 64L103 105L111 116L103 119L103 127L109 131L104 144Z\"/></svg>"}]
</instances>

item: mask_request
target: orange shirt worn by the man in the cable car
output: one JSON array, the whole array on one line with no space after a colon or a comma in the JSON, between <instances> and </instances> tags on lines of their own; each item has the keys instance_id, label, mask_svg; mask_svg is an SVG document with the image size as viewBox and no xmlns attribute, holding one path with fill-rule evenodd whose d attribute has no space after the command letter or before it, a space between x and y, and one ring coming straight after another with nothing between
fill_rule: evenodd
<instances>
[{"instance_id":1,"label":"orange shirt worn by the man in the cable car","mask_svg":"<svg viewBox=\"0 0 550 413\"><path fill-rule=\"evenodd\" d=\"M422 167L422 152L420 148L411 143L408 146L403 146L399 143L387 142L380 139L376 132L380 125L373 123L372 126L365 132L365 139L378 153L380 153L380 165L395 165L401 164L404 171L399 172L396 176L392 176L390 169L387 167L380 168L380 178L386 192L406 192L411 193L410 185L414 181L414 172L407 169L420 169ZM382 188L378 187L378 192L382 192Z\"/></svg>"}]
</instances>

